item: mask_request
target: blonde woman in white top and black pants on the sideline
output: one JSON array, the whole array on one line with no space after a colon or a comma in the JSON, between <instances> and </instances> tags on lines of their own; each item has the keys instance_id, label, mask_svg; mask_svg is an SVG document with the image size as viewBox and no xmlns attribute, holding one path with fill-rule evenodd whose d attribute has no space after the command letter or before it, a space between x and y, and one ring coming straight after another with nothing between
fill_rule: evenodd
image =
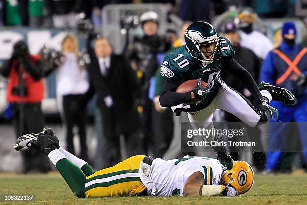
<instances>
[{"instance_id":1,"label":"blonde woman in white top and black pants on the sideline","mask_svg":"<svg viewBox=\"0 0 307 205\"><path fill-rule=\"evenodd\" d=\"M78 128L80 158L88 160L86 145L86 107L77 109L77 101L87 92L89 82L85 68L79 65L78 40L74 34L67 34L62 41L64 63L57 69L57 95L62 100L62 121L66 127L67 150L75 154L73 128ZM64 115L63 115L64 114Z\"/></svg>"}]
</instances>

